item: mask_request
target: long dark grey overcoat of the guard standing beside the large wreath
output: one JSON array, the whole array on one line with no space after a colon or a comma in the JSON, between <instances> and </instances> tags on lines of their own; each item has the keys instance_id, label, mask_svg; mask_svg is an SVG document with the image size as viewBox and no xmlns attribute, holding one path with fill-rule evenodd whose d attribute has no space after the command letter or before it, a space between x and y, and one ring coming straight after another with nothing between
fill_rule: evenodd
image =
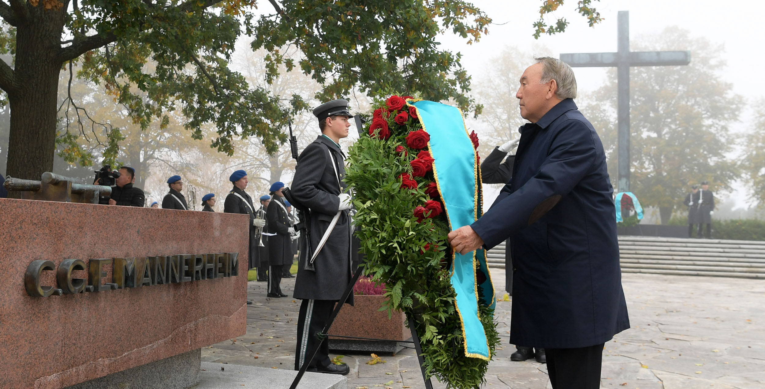
<instances>
[{"instance_id":1,"label":"long dark grey overcoat of the guard standing beside the large wreath","mask_svg":"<svg viewBox=\"0 0 765 389\"><path fill-rule=\"evenodd\" d=\"M340 185L337 183L335 169L332 168L334 156L335 168L340 175ZM298 158L295 178L292 180L292 196L295 201L311 208L311 241L306 242L301 237L302 244L310 244L311 250L300 247L300 263L298 263L298 278L295 279L295 299L339 300L343 296L351 278L350 261L350 215L342 211L337 225L332 230L324 248L314 260L316 273L304 270L304 262L311 258L318 247L324 231L329 227L332 217L340 208L340 186L343 182L345 155L340 148L325 136L319 136L306 147ZM272 250L269 247L269 250ZM353 295L348 302L352 303Z\"/></svg>"}]
</instances>

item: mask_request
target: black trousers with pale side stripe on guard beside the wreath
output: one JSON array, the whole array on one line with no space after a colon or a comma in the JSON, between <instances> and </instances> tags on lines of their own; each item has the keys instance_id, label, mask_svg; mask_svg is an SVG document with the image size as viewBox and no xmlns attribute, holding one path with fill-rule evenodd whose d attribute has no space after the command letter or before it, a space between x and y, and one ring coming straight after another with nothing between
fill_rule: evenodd
<instances>
[{"instance_id":1,"label":"black trousers with pale side stripe on guard beside the wreath","mask_svg":"<svg viewBox=\"0 0 765 389\"><path fill-rule=\"evenodd\" d=\"M316 334L324 329L324 325L327 325L335 302L335 300L303 300L301 302L300 314L298 315L298 347L295 350L295 370L300 370L304 363L308 363L309 368L330 365L330 345L327 341L321 344L319 351L311 361L306 361L306 359L308 359L308 353L319 344Z\"/></svg>"}]
</instances>

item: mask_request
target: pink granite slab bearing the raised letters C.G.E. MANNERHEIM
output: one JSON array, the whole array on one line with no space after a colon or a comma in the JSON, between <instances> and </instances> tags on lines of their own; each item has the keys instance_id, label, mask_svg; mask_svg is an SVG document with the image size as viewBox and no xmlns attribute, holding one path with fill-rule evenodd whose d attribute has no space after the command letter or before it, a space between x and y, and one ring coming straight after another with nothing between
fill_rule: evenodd
<instances>
[{"instance_id":1,"label":"pink granite slab bearing the raised letters C.G.E. MANNERHEIM","mask_svg":"<svg viewBox=\"0 0 765 389\"><path fill-rule=\"evenodd\" d=\"M243 335L248 228L241 214L0 198L0 387L67 387ZM33 260L184 253L239 253L239 275L49 297L24 289ZM43 280L55 285L55 272Z\"/></svg>"}]
</instances>

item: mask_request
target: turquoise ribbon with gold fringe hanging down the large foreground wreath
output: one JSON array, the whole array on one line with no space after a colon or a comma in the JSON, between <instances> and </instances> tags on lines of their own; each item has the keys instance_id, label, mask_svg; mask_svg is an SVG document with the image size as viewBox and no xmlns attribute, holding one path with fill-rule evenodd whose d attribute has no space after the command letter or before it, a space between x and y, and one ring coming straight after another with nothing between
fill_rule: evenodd
<instances>
[{"instance_id":1,"label":"turquoise ribbon with gold fringe hanging down the large foreground wreath","mask_svg":"<svg viewBox=\"0 0 765 389\"><path fill-rule=\"evenodd\" d=\"M462 113L453 106L432 101L411 103L417 108L422 126L430 135L430 151L438 190L451 230L473 224L480 217L480 175L476 167L476 153L467 135ZM477 262L474 262L477 261ZM462 321L465 355L490 358L489 345L483 325L478 317L478 296L475 277L476 263L487 275L481 284L494 306L494 288L491 284L486 252L478 249L467 254L454 253L451 264L451 286L457 293L457 311Z\"/></svg>"}]
</instances>

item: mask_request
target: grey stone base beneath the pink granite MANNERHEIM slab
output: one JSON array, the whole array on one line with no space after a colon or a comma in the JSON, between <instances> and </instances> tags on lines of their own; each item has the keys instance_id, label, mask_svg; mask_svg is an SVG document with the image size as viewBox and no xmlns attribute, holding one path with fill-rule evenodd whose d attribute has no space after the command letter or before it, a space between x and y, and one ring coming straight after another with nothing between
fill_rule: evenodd
<instances>
[{"instance_id":1,"label":"grey stone base beneath the pink granite MANNERHEIM slab","mask_svg":"<svg viewBox=\"0 0 765 389\"><path fill-rule=\"evenodd\" d=\"M186 389L200 383L200 349L118 371L66 389Z\"/></svg>"}]
</instances>

